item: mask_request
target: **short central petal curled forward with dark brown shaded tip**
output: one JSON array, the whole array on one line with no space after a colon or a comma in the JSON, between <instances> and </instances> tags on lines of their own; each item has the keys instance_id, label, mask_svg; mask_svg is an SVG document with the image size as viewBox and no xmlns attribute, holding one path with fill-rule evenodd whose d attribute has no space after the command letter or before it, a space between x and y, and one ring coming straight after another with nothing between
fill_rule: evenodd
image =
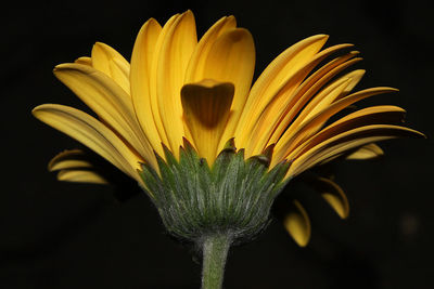
<instances>
[{"instance_id":1,"label":"short central petal curled forward with dark brown shaded tip","mask_svg":"<svg viewBox=\"0 0 434 289\"><path fill-rule=\"evenodd\" d=\"M209 166L217 156L217 147L227 123L234 87L229 82L203 80L186 84L181 91L184 119L201 157Z\"/></svg>"}]
</instances>

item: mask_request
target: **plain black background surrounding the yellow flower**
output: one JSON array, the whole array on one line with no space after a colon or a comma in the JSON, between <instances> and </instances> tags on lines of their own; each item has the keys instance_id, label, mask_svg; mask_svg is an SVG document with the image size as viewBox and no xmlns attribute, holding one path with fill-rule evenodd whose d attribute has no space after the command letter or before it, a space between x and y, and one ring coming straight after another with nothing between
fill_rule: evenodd
<instances>
[{"instance_id":1,"label":"plain black background surrounding the yellow flower","mask_svg":"<svg viewBox=\"0 0 434 289\"><path fill-rule=\"evenodd\" d=\"M0 288L199 288L201 267L164 233L144 194L116 202L122 188L55 181L48 160L79 147L34 119L42 103L82 104L52 75L89 55L95 41L127 58L141 25L192 9L199 34L234 14L254 36L256 75L294 42L329 34L328 45L356 44L367 69L359 89L397 94L396 104L427 140L384 143L386 156L339 163L352 205L341 221L304 194L312 238L296 247L275 221L229 255L225 288L433 288L433 11L429 1L15 1L1 17ZM297 189L290 185L286 193Z\"/></svg>"}]
</instances>

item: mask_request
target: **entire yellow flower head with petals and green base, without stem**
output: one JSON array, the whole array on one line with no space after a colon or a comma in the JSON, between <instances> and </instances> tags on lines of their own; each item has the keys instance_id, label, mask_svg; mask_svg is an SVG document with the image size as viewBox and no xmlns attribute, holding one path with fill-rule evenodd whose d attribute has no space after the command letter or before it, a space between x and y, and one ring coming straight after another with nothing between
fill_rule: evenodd
<instances>
[{"instance_id":1,"label":"entire yellow flower head with petals and green base, without stem","mask_svg":"<svg viewBox=\"0 0 434 289\"><path fill-rule=\"evenodd\" d=\"M401 127L405 110L392 105L330 121L358 101L396 89L353 93L365 71L344 70L361 58L352 44L321 50L327 40L317 35L286 49L252 86L254 41L233 16L199 41L190 11L163 27L151 18L130 63L98 42L90 57L54 68L98 118L56 104L33 113L139 182L173 234L196 240L226 229L248 238L265 227L272 200L294 176L340 156L379 155L379 141L422 135ZM77 156L63 153L50 168L62 180L105 182ZM322 184L334 187L336 194L323 197L345 216L345 195L330 181ZM295 207L299 213L285 225L304 245L309 229L301 231L305 212L298 201Z\"/></svg>"}]
</instances>

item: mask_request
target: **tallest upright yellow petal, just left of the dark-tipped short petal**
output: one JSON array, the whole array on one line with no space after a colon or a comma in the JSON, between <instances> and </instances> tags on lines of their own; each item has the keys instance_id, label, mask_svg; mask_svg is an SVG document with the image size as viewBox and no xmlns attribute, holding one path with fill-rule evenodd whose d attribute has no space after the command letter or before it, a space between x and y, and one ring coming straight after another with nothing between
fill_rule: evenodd
<instances>
[{"instance_id":1,"label":"tallest upright yellow petal, just left of the dark-tipped short petal","mask_svg":"<svg viewBox=\"0 0 434 289\"><path fill-rule=\"evenodd\" d=\"M168 145L178 157L184 136L180 92L188 63L197 43L193 13L187 11L175 18L162 41L156 67L157 108Z\"/></svg>"}]
</instances>

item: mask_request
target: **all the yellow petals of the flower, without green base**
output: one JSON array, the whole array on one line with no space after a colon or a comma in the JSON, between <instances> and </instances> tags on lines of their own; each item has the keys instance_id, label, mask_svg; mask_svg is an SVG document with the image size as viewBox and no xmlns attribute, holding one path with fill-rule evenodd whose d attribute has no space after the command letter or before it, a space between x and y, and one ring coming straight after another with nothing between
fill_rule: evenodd
<instances>
[{"instance_id":1,"label":"all the yellow petals of the flower, without green base","mask_svg":"<svg viewBox=\"0 0 434 289\"><path fill-rule=\"evenodd\" d=\"M98 42L90 57L54 68L98 118L58 104L40 105L33 114L144 187L140 163L159 172L157 156L167 160L167 147L179 160L183 139L209 167L231 139L238 150L244 149L245 159L272 149L269 170L282 161L291 163L288 181L340 156L376 156L379 141L422 135L401 127L405 110L392 105L330 121L358 101L397 90L380 87L353 93L365 70L343 71L361 58L352 44L321 50L327 40L317 35L290 47L252 86L254 41L246 29L237 27L233 16L219 19L200 41L190 11L174 15L163 27L151 18L139 31L130 63ZM104 183L81 154L65 152L50 169L59 170L61 180ZM345 218L345 195L336 187L334 192L323 197ZM298 201L295 207L298 212L286 219L285 226L305 245L308 219Z\"/></svg>"}]
</instances>

